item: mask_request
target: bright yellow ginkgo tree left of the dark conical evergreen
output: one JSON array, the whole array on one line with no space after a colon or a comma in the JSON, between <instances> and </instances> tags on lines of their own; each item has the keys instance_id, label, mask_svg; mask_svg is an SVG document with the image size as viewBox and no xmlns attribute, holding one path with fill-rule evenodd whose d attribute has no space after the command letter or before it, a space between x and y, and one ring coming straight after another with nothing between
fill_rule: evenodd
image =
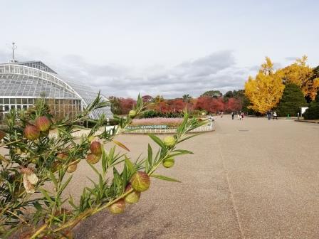
<instances>
[{"instance_id":1,"label":"bright yellow ginkgo tree left of the dark conical evergreen","mask_svg":"<svg viewBox=\"0 0 319 239\"><path fill-rule=\"evenodd\" d=\"M265 114L276 107L283 95L283 73L273 70L271 59L266 57L256 78L249 77L245 83L245 95L251 101L249 108Z\"/></svg>"}]
</instances>

